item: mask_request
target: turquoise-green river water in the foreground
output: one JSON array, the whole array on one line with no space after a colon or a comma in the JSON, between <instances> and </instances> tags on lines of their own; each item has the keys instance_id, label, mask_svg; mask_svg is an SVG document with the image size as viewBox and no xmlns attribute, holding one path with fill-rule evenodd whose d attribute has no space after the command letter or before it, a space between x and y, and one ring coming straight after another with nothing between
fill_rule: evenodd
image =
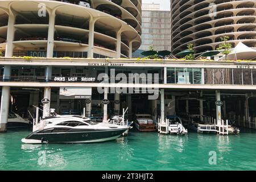
<instances>
[{"instance_id":1,"label":"turquoise-green river water in the foreground","mask_svg":"<svg viewBox=\"0 0 256 182\"><path fill-rule=\"evenodd\" d=\"M0 170L256 170L256 133L127 137L89 144L23 144L30 130L0 134ZM211 151L216 164L210 164ZM210 152L210 155L209 155Z\"/></svg>"}]
</instances>

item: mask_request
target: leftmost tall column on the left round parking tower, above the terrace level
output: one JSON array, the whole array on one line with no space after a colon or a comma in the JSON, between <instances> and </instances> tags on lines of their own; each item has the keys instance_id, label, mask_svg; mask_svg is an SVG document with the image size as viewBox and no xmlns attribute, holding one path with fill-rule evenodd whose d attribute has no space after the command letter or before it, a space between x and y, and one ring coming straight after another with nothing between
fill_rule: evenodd
<instances>
[{"instance_id":1,"label":"leftmost tall column on the left round parking tower, above the terrace level","mask_svg":"<svg viewBox=\"0 0 256 182\"><path fill-rule=\"evenodd\" d=\"M15 23L15 16L10 13L8 19L8 31L7 31L7 42L6 42L6 49L5 49L5 57L12 57L13 56L13 41L14 41L14 23Z\"/></svg>"}]
</instances>

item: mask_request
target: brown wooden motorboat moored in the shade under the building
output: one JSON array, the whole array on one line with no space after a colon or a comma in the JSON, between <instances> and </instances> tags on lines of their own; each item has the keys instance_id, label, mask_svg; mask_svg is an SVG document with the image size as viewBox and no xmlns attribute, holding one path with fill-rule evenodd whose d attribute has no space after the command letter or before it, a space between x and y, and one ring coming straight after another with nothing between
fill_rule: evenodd
<instances>
[{"instance_id":1,"label":"brown wooden motorboat moored in the shade under the building","mask_svg":"<svg viewBox=\"0 0 256 182\"><path fill-rule=\"evenodd\" d=\"M139 131L156 131L156 125L150 114L136 114L135 127Z\"/></svg>"}]
</instances>

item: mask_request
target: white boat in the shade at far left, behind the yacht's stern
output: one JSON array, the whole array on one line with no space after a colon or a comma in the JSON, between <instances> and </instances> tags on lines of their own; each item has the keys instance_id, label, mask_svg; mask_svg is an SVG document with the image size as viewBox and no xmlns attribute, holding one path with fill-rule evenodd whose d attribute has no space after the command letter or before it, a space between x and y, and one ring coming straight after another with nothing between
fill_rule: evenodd
<instances>
[{"instance_id":1,"label":"white boat in the shade at far left, behind the yacht's stern","mask_svg":"<svg viewBox=\"0 0 256 182\"><path fill-rule=\"evenodd\" d=\"M10 112L7 120L7 129L18 129L32 126L32 122L28 119L23 119L20 115Z\"/></svg>"}]
</instances>

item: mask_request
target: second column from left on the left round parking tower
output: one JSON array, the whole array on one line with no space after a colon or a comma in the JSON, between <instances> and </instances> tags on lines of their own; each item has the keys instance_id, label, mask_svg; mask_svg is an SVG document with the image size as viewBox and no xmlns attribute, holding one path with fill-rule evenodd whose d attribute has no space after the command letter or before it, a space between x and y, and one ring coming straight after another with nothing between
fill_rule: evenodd
<instances>
[{"instance_id":1,"label":"second column from left on the left round parking tower","mask_svg":"<svg viewBox=\"0 0 256 182\"><path fill-rule=\"evenodd\" d=\"M49 28L47 39L47 57L53 57L54 49L54 32L55 32L55 11L49 13Z\"/></svg>"}]
</instances>

